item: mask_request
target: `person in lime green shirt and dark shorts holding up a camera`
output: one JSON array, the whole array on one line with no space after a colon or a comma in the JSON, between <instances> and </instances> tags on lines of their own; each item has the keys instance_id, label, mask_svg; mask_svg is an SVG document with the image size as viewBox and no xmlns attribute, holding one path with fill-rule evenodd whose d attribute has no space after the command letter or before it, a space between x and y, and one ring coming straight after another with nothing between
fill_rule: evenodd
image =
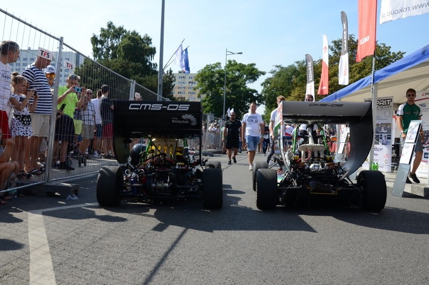
<instances>
[{"instance_id":1,"label":"person in lime green shirt and dark shorts holding up a camera","mask_svg":"<svg viewBox=\"0 0 429 285\"><path fill-rule=\"evenodd\" d=\"M79 79L79 76L71 74L65 80L67 85L58 86L57 108L60 109L61 105L64 104L63 110L62 112L60 111L60 116L56 119L55 124L54 151L55 155L57 155L57 148L59 146L59 169L75 170L65 160L68 143L71 143L75 136L73 114L76 108L80 109L84 105L85 100L85 96L80 96L80 99L78 99L78 94L85 94L86 92L85 87L79 86Z\"/></svg>"}]
</instances>

